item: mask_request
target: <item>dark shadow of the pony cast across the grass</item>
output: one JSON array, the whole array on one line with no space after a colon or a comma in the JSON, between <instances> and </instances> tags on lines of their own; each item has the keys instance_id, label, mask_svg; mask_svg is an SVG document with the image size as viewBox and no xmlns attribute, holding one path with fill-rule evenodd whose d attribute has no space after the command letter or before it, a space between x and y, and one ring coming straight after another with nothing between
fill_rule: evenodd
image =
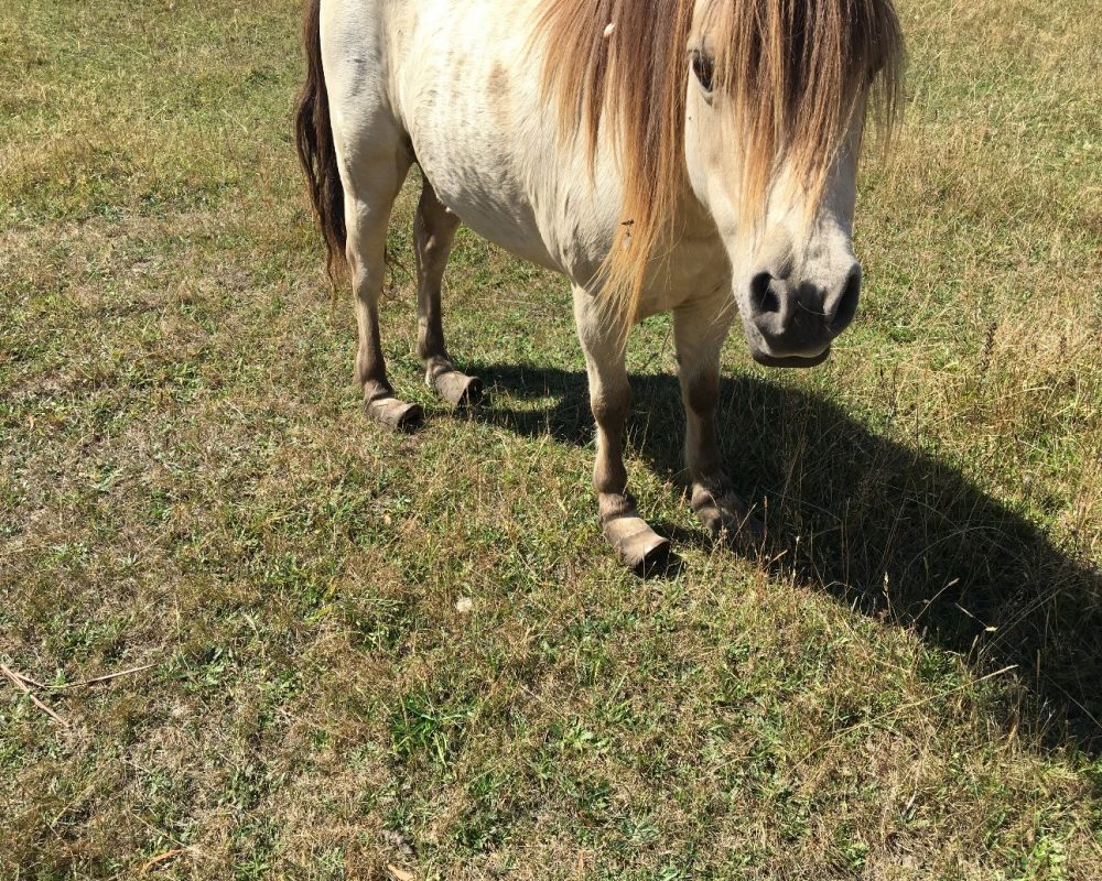
<instances>
[{"instance_id":1,"label":"dark shadow of the pony cast across the grass","mask_svg":"<svg viewBox=\"0 0 1102 881\"><path fill-rule=\"evenodd\" d=\"M491 389L554 401L532 411L491 395L477 418L526 436L591 443L584 372L476 369ZM634 446L659 472L678 475L677 380L633 377L631 388ZM774 566L915 629L981 673L1014 666L1017 685L1002 693L1007 727L1100 754L1102 574L1090 562L1055 546L958 468L878 437L806 391L728 377L720 420L738 490L767 503L769 556L781 561ZM706 544L702 532L655 526L682 548Z\"/></svg>"}]
</instances>

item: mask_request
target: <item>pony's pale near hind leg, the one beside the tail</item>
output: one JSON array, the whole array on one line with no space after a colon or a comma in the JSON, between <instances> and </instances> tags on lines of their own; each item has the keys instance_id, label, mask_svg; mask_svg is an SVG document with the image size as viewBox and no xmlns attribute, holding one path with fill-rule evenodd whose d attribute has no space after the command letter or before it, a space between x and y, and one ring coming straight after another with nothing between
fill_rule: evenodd
<instances>
[{"instance_id":1,"label":"pony's pale near hind leg, the one beside the tail","mask_svg":"<svg viewBox=\"0 0 1102 881\"><path fill-rule=\"evenodd\" d=\"M400 150L396 150L380 156L376 163L357 163L358 168L353 171L345 185L346 254L356 292L356 324L359 329L356 378L364 388L367 415L396 431L411 431L423 420L420 405L408 404L395 396L387 379L379 330L387 225L411 164Z\"/></svg>"}]
</instances>

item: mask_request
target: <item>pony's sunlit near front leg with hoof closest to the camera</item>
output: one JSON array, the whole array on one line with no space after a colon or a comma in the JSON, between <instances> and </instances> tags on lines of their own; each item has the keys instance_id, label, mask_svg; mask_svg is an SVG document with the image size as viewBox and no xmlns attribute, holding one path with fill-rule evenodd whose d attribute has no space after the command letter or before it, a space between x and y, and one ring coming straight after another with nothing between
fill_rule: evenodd
<instances>
[{"instance_id":1,"label":"pony's sunlit near front leg with hoof closest to the camera","mask_svg":"<svg viewBox=\"0 0 1102 881\"><path fill-rule=\"evenodd\" d=\"M574 289L574 317L590 377L590 406L597 424L597 458L593 488L597 493L601 529L628 568L646 574L669 556L670 542L656 533L636 511L627 491L624 431L630 403L625 366L626 330L603 319L593 295Z\"/></svg>"}]
</instances>

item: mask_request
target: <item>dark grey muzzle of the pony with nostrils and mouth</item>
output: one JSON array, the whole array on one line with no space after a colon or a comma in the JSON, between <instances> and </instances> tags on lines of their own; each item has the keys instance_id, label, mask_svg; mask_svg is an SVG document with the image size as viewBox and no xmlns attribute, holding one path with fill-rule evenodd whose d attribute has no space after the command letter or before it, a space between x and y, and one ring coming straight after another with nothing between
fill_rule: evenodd
<instances>
[{"instance_id":1,"label":"dark grey muzzle of the pony with nostrils and mouth","mask_svg":"<svg viewBox=\"0 0 1102 881\"><path fill-rule=\"evenodd\" d=\"M853 322L861 298L861 265L823 285L759 272L750 280L743 316L750 355L766 367L814 367Z\"/></svg>"}]
</instances>

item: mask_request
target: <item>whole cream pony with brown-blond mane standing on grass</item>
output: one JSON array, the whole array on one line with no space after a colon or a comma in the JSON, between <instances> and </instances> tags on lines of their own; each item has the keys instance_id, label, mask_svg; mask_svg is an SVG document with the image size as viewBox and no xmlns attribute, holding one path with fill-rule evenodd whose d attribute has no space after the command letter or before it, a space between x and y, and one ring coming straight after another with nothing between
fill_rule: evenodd
<instances>
[{"instance_id":1,"label":"whole cream pony with brown-blond mane standing on grass","mask_svg":"<svg viewBox=\"0 0 1102 881\"><path fill-rule=\"evenodd\" d=\"M601 526L646 570L670 543L627 488L625 351L636 323L672 312L691 504L715 536L758 534L719 452L721 348L737 314L759 363L813 367L856 314L857 157L900 88L892 0L307 0L303 37L298 152L329 276L355 292L367 414L423 418L387 378L378 307L417 163L429 387L456 406L482 392L444 341L461 222L565 275Z\"/></svg>"}]
</instances>

